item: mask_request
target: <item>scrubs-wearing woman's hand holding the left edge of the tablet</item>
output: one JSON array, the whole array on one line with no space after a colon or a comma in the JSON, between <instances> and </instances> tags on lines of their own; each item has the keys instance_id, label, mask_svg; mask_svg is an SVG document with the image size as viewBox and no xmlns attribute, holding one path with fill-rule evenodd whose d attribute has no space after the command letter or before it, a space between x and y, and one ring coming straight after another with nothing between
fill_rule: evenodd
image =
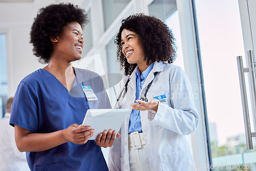
<instances>
[{"instance_id":1,"label":"scrubs-wearing woman's hand holding the left edge of the tablet","mask_svg":"<svg viewBox=\"0 0 256 171\"><path fill-rule=\"evenodd\" d=\"M67 142L74 144L85 144L94 135L94 130L90 126L82 126L76 123L70 125L63 132L63 138Z\"/></svg>"}]
</instances>

